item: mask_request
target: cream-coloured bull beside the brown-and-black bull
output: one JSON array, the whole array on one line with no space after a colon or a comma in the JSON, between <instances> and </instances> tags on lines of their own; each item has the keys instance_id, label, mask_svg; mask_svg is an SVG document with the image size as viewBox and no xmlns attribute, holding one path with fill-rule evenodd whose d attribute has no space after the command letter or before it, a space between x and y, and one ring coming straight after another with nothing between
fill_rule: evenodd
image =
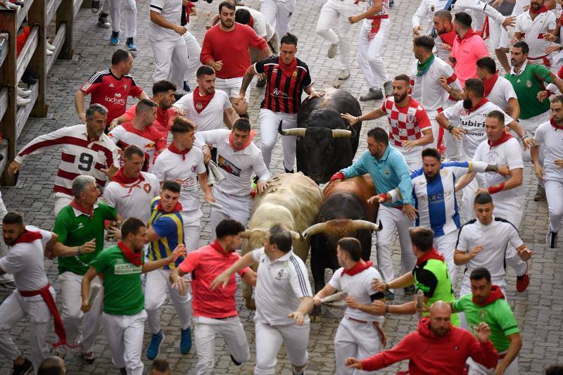
<instances>
[{"instance_id":1,"label":"cream-coloured bull beside the brown-and-black bull","mask_svg":"<svg viewBox=\"0 0 563 375\"><path fill-rule=\"evenodd\" d=\"M243 234L242 254L264 246L267 231L284 224L293 234L293 252L305 262L310 242L301 231L315 223L322 205L322 191L303 173L277 174L268 181L264 193L256 196L251 219ZM252 287L243 284L246 307L254 310Z\"/></svg>"}]
</instances>

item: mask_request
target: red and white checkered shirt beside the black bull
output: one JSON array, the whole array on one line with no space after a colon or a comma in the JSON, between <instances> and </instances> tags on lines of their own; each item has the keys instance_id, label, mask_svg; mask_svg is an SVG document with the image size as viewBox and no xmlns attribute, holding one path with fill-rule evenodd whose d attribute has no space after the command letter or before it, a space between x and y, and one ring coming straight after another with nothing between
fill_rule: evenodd
<instances>
[{"instance_id":1,"label":"red and white checkered shirt beside the black bull","mask_svg":"<svg viewBox=\"0 0 563 375\"><path fill-rule=\"evenodd\" d=\"M416 141L422 137L422 130L430 129L426 110L415 99L410 98L407 106L398 107L390 96L381 104L381 110L389 120L389 144L403 146L404 141Z\"/></svg>"}]
</instances>

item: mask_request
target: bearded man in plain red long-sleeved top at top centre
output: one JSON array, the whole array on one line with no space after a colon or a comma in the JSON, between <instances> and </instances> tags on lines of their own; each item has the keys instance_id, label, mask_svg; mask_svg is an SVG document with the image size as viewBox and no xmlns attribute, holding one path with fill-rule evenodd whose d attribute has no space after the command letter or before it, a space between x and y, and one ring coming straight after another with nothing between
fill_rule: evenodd
<instances>
[{"instance_id":1,"label":"bearded man in plain red long-sleeved top at top centre","mask_svg":"<svg viewBox=\"0 0 563 375\"><path fill-rule=\"evenodd\" d=\"M229 1L219 4L221 22L205 32L200 56L202 64L215 70L217 89L226 92L231 100L239 95L243 75L251 66L248 49L260 50L258 60L272 55L267 42L252 27L234 22L234 11L235 6ZM249 98L250 92L246 94L246 102ZM246 108L235 109L239 109L239 115L246 115Z\"/></svg>"}]
</instances>

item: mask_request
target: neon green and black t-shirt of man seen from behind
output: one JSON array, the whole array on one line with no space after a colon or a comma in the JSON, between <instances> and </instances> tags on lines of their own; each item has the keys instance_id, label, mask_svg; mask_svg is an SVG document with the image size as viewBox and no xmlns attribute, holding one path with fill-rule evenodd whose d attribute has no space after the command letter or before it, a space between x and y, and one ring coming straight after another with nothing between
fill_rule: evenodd
<instances>
[{"instance_id":1,"label":"neon green and black t-shirt of man seen from behind","mask_svg":"<svg viewBox=\"0 0 563 375\"><path fill-rule=\"evenodd\" d=\"M428 297L428 306L431 306L438 300L444 302L455 301L453 293L452 281L448 266L442 260L429 259L422 262L412 270L415 276L415 286L424 293L424 297ZM424 316L427 316L425 313ZM451 322L454 326L460 326L460 317L452 314Z\"/></svg>"}]
</instances>

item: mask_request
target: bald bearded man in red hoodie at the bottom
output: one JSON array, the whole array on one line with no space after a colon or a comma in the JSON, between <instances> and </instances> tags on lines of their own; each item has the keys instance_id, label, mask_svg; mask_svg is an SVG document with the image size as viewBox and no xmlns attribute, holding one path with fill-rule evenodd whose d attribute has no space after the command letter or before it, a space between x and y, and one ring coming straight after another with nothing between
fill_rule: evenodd
<instances>
[{"instance_id":1,"label":"bald bearded man in red hoodie at the bottom","mask_svg":"<svg viewBox=\"0 0 563 375\"><path fill-rule=\"evenodd\" d=\"M498 354L488 340L491 336L488 324L483 322L476 326L474 336L469 331L452 326L451 314L448 303L437 301L430 307L430 316L420 319L417 331L409 333L395 348L361 361L348 358L346 365L353 369L375 371L410 360L410 374L429 374L440 369L443 374L462 375L465 362L471 357L487 369L495 367Z\"/></svg>"}]
</instances>

